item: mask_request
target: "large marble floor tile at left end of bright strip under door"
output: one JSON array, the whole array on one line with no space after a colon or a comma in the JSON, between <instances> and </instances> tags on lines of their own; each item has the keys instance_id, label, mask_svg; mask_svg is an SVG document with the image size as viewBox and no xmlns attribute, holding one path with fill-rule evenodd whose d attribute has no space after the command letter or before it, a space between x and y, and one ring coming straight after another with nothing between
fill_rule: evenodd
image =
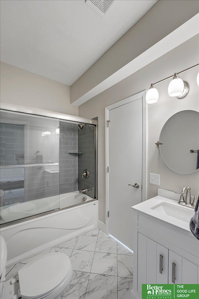
<instances>
[{"instance_id":1,"label":"large marble floor tile at left end of bright strip under door","mask_svg":"<svg viewBox=\"0 0 199 299\"><path fill-rule=\"evenodd\" d=\"M95 251L117 254L117 241L113 238L98 237Z\"/></svg>"}]
</instances>

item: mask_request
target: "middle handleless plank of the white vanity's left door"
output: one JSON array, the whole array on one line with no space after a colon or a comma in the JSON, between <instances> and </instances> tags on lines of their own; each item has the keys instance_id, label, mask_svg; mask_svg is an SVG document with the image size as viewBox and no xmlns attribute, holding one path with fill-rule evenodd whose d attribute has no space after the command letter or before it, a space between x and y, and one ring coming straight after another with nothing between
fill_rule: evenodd
<instances>
[{"instance_id":1,"label":"middle handleless plank of the white vanity's left door","mask_svg":"<svg viewBox=\"0 0 199 299\"><path fill-rule=\"evenodd\" d=\"M146 283L156 283L156 251L157 243L147 238Z\"/></svg>"}]
</instances>

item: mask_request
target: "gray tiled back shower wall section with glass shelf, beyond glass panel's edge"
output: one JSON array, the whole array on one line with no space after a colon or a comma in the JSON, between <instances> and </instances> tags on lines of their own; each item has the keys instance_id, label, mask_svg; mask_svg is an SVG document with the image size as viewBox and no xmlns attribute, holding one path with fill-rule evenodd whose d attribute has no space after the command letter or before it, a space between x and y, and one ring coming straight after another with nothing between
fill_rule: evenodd
<instances>
[{"instance_id":1,"label":"gray tiled back shower wall section with glass shelf, beyond glass panel's edge","mask_svg":"<svg viewBox=\"0 0 199 299\"><path fill-rule=\"evenodd\" d=\"M59 191L78 190L78 124L60 121L59 135Z\"/></svg>"}]
</instances>

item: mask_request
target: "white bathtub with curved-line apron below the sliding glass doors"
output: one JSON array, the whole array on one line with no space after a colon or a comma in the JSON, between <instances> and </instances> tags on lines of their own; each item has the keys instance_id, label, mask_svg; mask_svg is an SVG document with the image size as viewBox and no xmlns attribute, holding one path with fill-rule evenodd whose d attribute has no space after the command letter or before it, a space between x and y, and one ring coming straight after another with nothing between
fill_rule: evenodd
<instances>
[{"instance_id":1,"label":"white bathtub with curved-line apron below the sliding glass doors","mask_svg":"<svg viewBox=\"0 0 199 299\"><path fill-rule=\"evenodd\" d=\"M44 209L44 203L53 205L55 197L42 198L34 201L37 209ZM83 202L83 200L85 200ZM22 213L33 213L23 206ZM12 213L21 213L19 203L14 205ZM70 207L67 207L69 206ZM16 209L17 206L17 209ZM11 208L11 207L10 207ZM8 208L1 211L1 216L8 216ZM6 211L7 210L7 211ZM27 211L28 210L28 211ZM38 210L37 210L38 211ZM4 212L4 213L3 213ZM24 214L23 214L24 215ZM64 241L72 239L82 233L97 227L98 201L79 192L60 194L60 209L47 215L40 215L34 219L8 225L0 229L7 244L7 264L9 267L44 250L54 247Z\"/></svg>"}]
</instances>

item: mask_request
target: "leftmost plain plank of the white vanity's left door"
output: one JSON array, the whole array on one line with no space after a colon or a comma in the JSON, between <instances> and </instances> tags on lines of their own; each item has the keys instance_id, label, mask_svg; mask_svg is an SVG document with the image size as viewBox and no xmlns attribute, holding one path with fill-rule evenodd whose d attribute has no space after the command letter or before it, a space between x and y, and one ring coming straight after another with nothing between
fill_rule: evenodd
<instances>
[{"instance_id":1,"label":"leftmost plain plank of the white vanity's left door","mask_svg":"<svg viewBox=\"0 0 199 299\"><path fill-rule=\"evenodd\" d=\"M138 233L137 291L142 294L142 284L146 284L146 236Z\"/></svg>"}]
</instances>

